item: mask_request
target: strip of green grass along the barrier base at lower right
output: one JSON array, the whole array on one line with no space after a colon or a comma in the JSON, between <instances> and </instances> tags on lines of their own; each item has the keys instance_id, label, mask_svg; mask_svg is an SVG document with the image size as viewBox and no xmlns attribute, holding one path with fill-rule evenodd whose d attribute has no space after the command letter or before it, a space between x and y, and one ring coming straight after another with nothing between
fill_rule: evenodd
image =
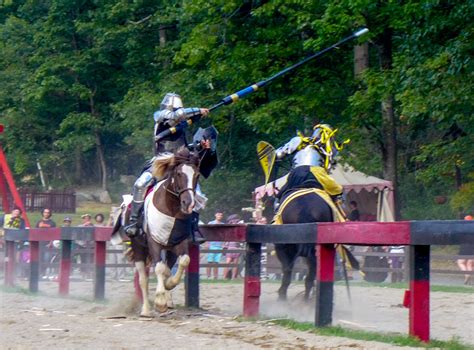
<instances>
[{"instance_id":1,"label":"strip of green grass along the barrier base at lower right","mask_svg":"<svg viewBox=\"0 0 474 350\"><path fill-rule=\"evenodd\" d=\"M375 333L360 330L352 330L342 327L324 327L315 328L314 324L309 322L296 322L288 319L281 320L269 320L269 323L277 324L285 328L314 333L321 336L331 337L345 337L364 341L377 341L382 343L388 343L399 346L412 346L412 347L423 347L423 348L441 348L448 350L464 350L473 349L472 346L461 343L458 339L453 338L449 341L442 340L431 340L430 343L424 343L420 340L394 333Z\"/></svg>"}]
</instances>

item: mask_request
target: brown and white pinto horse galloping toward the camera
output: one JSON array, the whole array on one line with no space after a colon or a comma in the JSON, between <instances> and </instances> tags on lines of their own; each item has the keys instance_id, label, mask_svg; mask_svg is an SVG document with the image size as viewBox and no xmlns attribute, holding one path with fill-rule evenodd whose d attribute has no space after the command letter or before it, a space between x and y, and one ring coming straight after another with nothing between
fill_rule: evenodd
<instances>
[{"instance_id":1,"label":"brown and white pinto horse galloping toward the camera","mask_svg":"<svg viewBox=\"0 0 474 350\"><path fill-rule=\"evenodd\" d=\"M141 316L151 316L152 313L148 300L147 258L151 257L157 277L154 303L159 312L165 312L172 306L170 291L178 285L189 265L187 238L192 230L191 214L199 178L199 157L186 148L181 148L176 154L160 155L153 162L152 173L162 180L145 198L145 234L131 239L133 260L143 295ZM166 252L164 261L162 251ZM178 269L173 276L171 268L177 259Z\"/></svg>"}]
</instances>

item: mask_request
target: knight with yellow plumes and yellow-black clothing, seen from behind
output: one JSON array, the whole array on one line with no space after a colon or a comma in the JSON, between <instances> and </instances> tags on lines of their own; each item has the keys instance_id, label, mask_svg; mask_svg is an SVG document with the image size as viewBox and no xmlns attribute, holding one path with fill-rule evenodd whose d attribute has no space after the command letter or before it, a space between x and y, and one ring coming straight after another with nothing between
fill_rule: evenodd
<instances>
[{"instance_id":1,"label":"knight with yellow plumes and yellow-black clothing, seen from behind","mask_svg":"<svg viewBox=\"0 0 474 350\"><path fill-rule=\"evenodd\" d=\"M333 130L327 124L317 124L310 137L298 133L276 150L277 160L293 156L292 169L276 196L276 208L290 193L302 188L324 190L336 201L342 195L342 186L329 173L335 164L335 156L348 141L338 144L334 138L336 132L337 129Z\"/></svg>"}]
</instances>

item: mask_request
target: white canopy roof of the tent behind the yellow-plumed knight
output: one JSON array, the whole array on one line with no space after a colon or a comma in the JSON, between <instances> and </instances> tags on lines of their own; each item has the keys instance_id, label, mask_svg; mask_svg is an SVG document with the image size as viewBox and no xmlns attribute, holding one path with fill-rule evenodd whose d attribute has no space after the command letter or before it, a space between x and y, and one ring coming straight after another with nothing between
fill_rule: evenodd
<instances>
[{"instance_id":1,"label":"white canopy roof of the tent behind the yellow-plumed knight","mask_svg":"<svg viewBox=\"0 0 474 350\"><path fill-rule=\"evenodd\" d=\"M340 165L337 164L331 172L331 176L337 183L344 187L345 192L354 191L359 193L362 190L367 192L372 192L375 189L383 191L384 188L393 190L392 182L379 179L375 176L366 175L360 171L355 170L350 165ZM286 176L277 179L276 187L281 188L281 186L286 181ZM268 185L263 185L255 189L255 194L257 197L262 198L265 195L271 196L273 194L273 185L269 183Z\"/></svg>"}]
</instances>

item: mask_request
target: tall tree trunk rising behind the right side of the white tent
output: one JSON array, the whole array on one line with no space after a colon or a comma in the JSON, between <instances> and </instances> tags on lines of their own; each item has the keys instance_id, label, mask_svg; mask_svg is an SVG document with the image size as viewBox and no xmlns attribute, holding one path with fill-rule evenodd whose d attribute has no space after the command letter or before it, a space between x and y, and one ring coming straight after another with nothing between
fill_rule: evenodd
<instances>
[{"instance_id":1,"label":"tall tree trunk rising behind the right side of the white tent","mask_svg":"<svg viewBox=\"0 0 474 350\"><path fill-rule=\"evenodd\" d=\"M392 30L386 28L380 39L380 65L382 72L392 69ZM382 108L382 147L383 176L393 184L395 220L400 219L398 203L398 176L397 176L397 128L394 110L394 98L388 93L381 101Z\"/></svg>"}]
</instances>

